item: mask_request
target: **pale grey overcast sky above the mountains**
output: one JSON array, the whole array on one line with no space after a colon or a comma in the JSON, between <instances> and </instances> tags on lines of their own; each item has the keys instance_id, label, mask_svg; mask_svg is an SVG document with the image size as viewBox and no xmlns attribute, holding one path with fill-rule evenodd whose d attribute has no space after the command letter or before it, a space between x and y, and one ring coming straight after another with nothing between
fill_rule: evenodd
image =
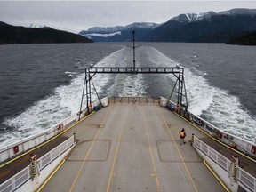
<instances>
[{"instance_id":1,"label":"pale grey overcast sky above the mountains","mask_svg":"<svg viewBox=\"0 0 256 192\"><path fill-rule=\"evenodd\" d=\"M180 13L221 12L233 8L256 9L254 1L1 1L0 21L28 27L30 24L78 33L100 26L132 22L162 23Z\"/></svg>"}]
</instances>

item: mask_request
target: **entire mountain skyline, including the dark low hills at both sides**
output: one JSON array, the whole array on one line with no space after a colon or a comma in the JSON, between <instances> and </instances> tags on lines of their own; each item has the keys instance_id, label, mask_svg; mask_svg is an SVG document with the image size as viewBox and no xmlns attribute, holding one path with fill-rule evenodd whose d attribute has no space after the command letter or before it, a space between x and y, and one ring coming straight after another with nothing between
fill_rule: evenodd
<instances>
[{"instance_id":1,"label":"entire mountain skyline, including the dark low hills at both sides","mask_svg":"<svg viewBox=\"0 0 256 192\"><path fill-rule=\"evenodd\" d=\"M135 22L126 26L93 27L79 34L46 26L15 27L0 21L0 44L129 42L135 30L141 42L207 42L256 44L256 9L180 14L157 24Z\"/></svg>"}]
</instances>

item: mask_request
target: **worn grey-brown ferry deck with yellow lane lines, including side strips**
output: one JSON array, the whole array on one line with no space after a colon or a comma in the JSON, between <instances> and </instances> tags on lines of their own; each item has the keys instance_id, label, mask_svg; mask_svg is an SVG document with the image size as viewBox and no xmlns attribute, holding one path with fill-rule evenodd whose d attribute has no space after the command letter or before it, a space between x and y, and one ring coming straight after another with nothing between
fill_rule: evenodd
<instances>
[{"instance_id":1,"label":"worn grey-brown ferry deck with yellow lane lines, including side strips","mask_svg":"<svg viewBox=\"0 0 256 192\"><path fill-rule=\"evenodd\" d=\"M180 145L185 128L186 143ZM76 147L42 191L225 191L190 145L192 133L224 156L235 154L157 102L115 103L101 108L55 141L36 149L37 156L76 132ZM252 161L240 166L256 175ZM0 182L29 164L29 155L0 168ZM23 167L23 168L21 168Z\"/></svg>"}]
</instances>

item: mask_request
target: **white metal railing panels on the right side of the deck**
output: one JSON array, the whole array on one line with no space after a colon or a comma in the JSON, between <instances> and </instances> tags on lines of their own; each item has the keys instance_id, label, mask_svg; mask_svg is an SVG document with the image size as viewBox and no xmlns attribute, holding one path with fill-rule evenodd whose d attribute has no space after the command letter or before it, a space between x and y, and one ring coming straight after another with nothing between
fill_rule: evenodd
<instances>
[{"instance_id":1,"label":"white metal railing panels on the right side of the deck","mask_svg":"<svg viewBox=\"0 0 256 192\"><path fill-rule=\"evenodd\" d=\"M202 151L206 156L209 156L209 158L211 158L212 161L214 161L216 164L219 164L222 169L228 172L231 161L227 157L222 156L218 151L209 147L202 140L197 139L195 136L194 146ZM240 181L244 187L252 191L256 191L256 178L254 178L250 173L245 172L240 167L237 171L237 180Z\"/></svg>"}]
</instances>

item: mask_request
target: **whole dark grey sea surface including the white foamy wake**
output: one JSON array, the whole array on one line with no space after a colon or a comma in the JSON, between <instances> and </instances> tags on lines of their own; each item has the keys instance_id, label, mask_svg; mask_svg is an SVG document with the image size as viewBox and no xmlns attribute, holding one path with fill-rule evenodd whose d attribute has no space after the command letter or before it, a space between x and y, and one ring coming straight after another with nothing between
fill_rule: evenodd
<instances>
[{"instance_id":1,"label":"whole dark grey sea surface including the white foamy wake","mask_svg":"<svg viewBox=\"0 0 256 192\"><path fill-rule=\"evenodd\" d=\"M220 129L256 143L256 47L138 43L138 67L185 68L188 108ZM132 67L132 43L0 46L0 148L77 113L85 67ZM175 77L96 75L100 97L164 96ZM96 100L96 96L93 96ZM85 107L85 104L84 104Z\"/></svg>"}]
</instances>

